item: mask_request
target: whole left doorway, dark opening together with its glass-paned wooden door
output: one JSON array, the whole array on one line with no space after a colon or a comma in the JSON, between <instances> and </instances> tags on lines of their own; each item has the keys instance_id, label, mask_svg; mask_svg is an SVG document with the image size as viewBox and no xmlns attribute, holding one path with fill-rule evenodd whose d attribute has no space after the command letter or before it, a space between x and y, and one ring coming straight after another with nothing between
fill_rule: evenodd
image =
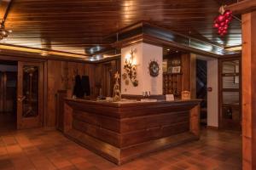
<instances>
[{"instance_id":1,"label":"whole left doorway, dark opening together with its glass-paned wooden door","mask_svg":"<svg viewBox=\"0 0 256 170\"><path fill-rule=\"evenodd\" d=\"M0 60L0 131L43 126L44 63Z\"/></svg>"}]
</instances>

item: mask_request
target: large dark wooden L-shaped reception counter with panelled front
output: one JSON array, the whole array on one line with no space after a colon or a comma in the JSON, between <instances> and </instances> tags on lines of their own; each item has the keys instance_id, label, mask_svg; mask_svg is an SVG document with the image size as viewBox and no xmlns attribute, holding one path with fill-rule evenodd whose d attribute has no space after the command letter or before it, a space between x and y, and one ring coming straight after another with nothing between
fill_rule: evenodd
<instances>
[{"instance_id":1,"label":"large dark wooden L-shaped reception counter with panelled front","mask_svg":"<svg viewBox=\"0 0 256 170\"><path fill-rule=\"evenodd\" d=\"M199 139L200 102L65 99L64 133L109 161L122 164Z\"/></svg>"}]
</instances>

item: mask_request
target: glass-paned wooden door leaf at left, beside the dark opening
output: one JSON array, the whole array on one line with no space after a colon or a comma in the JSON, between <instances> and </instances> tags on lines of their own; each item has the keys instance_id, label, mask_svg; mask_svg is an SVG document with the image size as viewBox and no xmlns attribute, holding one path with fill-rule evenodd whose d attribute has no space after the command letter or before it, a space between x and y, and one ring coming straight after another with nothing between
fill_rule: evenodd
<instances>
[{"instance_id":1,"label":"glass-paned wooden door leaf at left, beside the dark opening","mask_svg":"<svg viewBox=\"0 0 256 170\"><path fill-rule=\"evenodd\" d=\"M44 64L18 63L17 128L42 127Z\"/></svg>"}]
</instances>

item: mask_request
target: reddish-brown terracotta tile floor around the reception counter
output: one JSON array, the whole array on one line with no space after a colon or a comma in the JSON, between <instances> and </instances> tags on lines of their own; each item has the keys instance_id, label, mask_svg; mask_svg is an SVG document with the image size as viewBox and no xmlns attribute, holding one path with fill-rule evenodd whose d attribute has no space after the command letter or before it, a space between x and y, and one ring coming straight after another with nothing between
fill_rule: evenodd
<instances>
[{"instance_id":1,"label":"reddish-brown terracotta tile floor around the reception counter","mask_svg":"<svg viewBox=\"0 0 256 170\"><path fill-rule=\"evenodd\" d=\"M239 133L203 130L201 140L153 153L120 167L58 131L0 131L0 169L241 169Z\"/></svg>"}]
</instances>

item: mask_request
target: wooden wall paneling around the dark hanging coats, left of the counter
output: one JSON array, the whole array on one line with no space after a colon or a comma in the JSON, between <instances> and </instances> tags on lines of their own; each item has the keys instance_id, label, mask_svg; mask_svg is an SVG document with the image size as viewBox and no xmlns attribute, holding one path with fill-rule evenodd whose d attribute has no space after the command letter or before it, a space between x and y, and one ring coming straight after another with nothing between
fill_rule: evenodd
<instances>
[{"instance_id":1,"label":"wooden wall paneling around the dark hanging coats, left of the counter","mask_svg":"<svg viewBox=\"0 0 256 170\"><path fill-rule=\"evenodd\" d=\"M47 118L45 118L45 125L47 127L55 127L57 92L59 90L67 90L67 96L71 97L75 83L74 78L77 74L89 76L90 86L94 88L95 66L78 62L48 60L47 69Z\"/></svg>"}]
</instances>

